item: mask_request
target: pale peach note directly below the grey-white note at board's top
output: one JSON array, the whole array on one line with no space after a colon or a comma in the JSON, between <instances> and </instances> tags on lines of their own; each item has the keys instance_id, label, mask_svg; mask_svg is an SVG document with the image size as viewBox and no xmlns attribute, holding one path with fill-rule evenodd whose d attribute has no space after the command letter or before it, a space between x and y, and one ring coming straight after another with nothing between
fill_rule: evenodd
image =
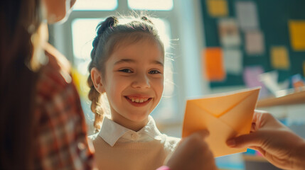
<instances>
[{"instance_id":1,"label":"pale peach note directly below the grey-white note at board's top","mask_svg":"<svg viewBox=\"0 0 305 170\"><path fill-rule=\"evenodd\" d=\"M264 54L264 35L259 30L245 33L245 48L248 55Z\"/></svg>"}]
</instances>

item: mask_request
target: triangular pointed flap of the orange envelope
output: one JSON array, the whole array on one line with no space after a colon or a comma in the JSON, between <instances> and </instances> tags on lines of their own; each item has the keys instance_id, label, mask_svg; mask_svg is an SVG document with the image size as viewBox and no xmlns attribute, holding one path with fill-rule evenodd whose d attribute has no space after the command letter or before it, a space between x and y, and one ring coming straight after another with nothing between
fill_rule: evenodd
<instances>
[{"instance_id":1,"label":"triangular pointed flap of the orange envelope","mask_svg":"<svg viewBox=\"0 0 305 170\"><path fill-rule=\"evenodd\" d=\"M229 94L211 96L209 98L195 99L191 100L191 102L196 103L203 110L214 115L216 118L219 118L221 115L237 106L242 100L247 98L247 96L256 94L257 91L259 91L258 88L246 91L237 91Z\"/></svg>"}]
</instances>

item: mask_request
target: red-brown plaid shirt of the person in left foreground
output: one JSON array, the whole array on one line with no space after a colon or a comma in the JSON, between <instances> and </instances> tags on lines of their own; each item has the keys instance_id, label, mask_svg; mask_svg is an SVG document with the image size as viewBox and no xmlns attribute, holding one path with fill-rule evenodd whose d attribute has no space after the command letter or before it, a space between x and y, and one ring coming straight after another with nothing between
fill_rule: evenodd
<instances>
[{"instance_id":1,"label":"red-brown plaid shirt of the person in left foreground","mask_svg":"<svg viewBox=\"0 0 305 170\"><path fill-rule=\"evenodd\" d=\"M80 97L67 68L69 65L65 67L50 55L48 64L41 69L35 112L35 169L94 166Z\"/></svg>"}]
</instances>

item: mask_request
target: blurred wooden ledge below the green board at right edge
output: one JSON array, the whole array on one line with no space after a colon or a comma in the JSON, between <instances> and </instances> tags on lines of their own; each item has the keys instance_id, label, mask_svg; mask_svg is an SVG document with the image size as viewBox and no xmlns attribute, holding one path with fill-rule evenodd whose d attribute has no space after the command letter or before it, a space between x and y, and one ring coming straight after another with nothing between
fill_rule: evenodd
<instances>
[{"instance_id":1,"label":"blurred wooden ledge below the green board at right edge","mask_svg":"<svg viewBox=\"0 0 305 170\"><path fill-rule=\"evenodd\" d=\"M257 102L257 108L305 103L305 91L287 94L281 97L263 98Z\"/></svg>"}]
</instances>

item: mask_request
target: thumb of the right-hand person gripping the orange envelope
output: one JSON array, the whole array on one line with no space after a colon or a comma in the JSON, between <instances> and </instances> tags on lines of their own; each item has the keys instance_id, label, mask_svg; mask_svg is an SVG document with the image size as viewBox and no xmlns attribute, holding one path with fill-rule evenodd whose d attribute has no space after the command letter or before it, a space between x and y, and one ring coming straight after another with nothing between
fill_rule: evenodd
<instances>
[{"instance_id":1,"label":"thumb of the right-hand person gripping the orange envelope","mask_svg":"<svg viewBox=\"0 0 305 170\"><path fill-rule=\"evenodd\" d=\"M239 137L232 138L227 141L227 145L235 148L260 147L262 145L262 140L260 140L257 132L253 132L247 135L240 135Z\"/></svg>"}]
</instances>

